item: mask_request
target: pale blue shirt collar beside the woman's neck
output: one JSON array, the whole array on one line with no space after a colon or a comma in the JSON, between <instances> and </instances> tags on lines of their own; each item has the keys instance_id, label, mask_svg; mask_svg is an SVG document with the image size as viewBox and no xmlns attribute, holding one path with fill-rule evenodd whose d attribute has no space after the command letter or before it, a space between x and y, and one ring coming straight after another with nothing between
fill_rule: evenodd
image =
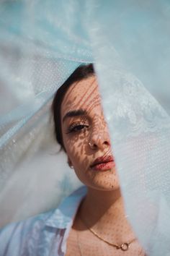
<instances>
[{"instance_id":1,"label":"pale blue shirt collar beside the woman's neck","mask_svg":"<svg viewBox=\"0 0 170 256\"><path fill-rule=\"evenodd\" d=\"M86 195L86 187L76 189L71 195L64 198L58 205L58 208L53 211L45 226L50 226L57 229L66 229L68 224L73 222L76 212L79 208L80 202Z\"/></svg>"}]
</instances>

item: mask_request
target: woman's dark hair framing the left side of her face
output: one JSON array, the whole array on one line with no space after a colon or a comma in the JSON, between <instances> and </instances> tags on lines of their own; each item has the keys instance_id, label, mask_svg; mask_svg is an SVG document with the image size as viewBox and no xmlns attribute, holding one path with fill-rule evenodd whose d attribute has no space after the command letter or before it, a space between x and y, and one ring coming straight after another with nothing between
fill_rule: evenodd
<instances>
[{"instance_id":1,"label":"woman's dark hair framing the left side of her face","mask_svg":"<svg viewBox=\"0 0 170 256\"><path fill-rule=\"evenodd\" d=\"M94 74L95 72L93 64L80 65L55 93L51 109L54 120L55 138L61 145L61 150L65 150L61 131L61 103L63 101L64 95L66 95L68 88L73 85L74 82L84 80Z\"/></svg>"}]
</instances>

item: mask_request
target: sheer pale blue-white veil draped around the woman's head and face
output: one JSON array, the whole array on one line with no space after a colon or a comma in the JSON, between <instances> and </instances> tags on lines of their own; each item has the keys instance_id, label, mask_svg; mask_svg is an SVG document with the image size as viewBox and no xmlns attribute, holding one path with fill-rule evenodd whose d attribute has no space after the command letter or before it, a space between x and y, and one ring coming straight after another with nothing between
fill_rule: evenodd
<instances>
[{"instance_id":1,"label":"sheer pale blue-white veil draped around the woman's head and face","mask_svg":"<svg viewBox=\"0 0 170 256\"><path fill-rule=\"evenodd\" d=\"M1 226L81 185L50 106L93 62L129 221L147 255L170 255L169 25L168 0L1 1Z\"/></svg>"}]
</instances>

